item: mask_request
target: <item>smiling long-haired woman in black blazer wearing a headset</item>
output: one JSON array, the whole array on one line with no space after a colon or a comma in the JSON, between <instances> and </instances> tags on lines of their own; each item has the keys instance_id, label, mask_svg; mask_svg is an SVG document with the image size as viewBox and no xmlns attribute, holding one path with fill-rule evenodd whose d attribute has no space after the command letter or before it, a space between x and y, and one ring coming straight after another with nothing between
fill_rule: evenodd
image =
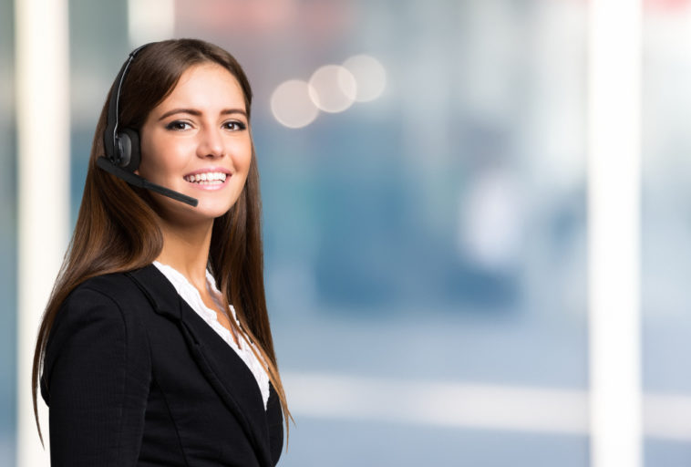
<instances>
[{"instance_id":1,"label":"smiling long-haired woman in black blazer wearing a headset","mask_svg":"<svg viewBox=\"0 0 691 467\"><path fill-rule=\"evenodd\" d=\"M251 100L193 39L140 47L113 83L36 343L54 466L278 462Z\"/></svg>"}]
</instances>

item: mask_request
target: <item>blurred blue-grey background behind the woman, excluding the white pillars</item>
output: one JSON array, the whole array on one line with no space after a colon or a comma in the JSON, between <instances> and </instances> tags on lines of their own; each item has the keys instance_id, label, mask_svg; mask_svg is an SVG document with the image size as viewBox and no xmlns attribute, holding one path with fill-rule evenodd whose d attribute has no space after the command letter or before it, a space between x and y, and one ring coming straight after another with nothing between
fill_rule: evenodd
<instances>
[{"instance_id":1,"label":"blurred blue-grey background behind the woman, excluding the white pillars","mask_svg":"<svg viewBox=\"0 0 691 467\"><path fill-rule=\"evenodd\" d=\"M98 112L129 51L152 34L214 42L255 94L267 298L296 422L279 465L589 465L588 5L70 0L70 226ZM643 386L687 413L691 2L643 5ZM0 0L7 466L14 8ZM49 125L37 119L36 131ZM691 462L691 425L666 421L644 425L646 466Z\"/></svg>"}]
</instances>

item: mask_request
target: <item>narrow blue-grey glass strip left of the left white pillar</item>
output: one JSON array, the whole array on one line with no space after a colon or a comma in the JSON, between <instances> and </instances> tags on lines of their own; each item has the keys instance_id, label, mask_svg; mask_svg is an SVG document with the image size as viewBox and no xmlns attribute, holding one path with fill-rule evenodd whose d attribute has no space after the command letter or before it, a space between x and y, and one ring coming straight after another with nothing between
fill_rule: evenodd
<instances>
[{"instance_id":1,"label":"narrow blue-grey glass strip left of the left white pillar","mask_svg":"<svg viewBox=\"0 0 691 467\"><path fill-rule=\"evenodd\" d=\"M0 459L15 463L16 132L15 12L0 0Z\"/></svg>"}]
</instances>

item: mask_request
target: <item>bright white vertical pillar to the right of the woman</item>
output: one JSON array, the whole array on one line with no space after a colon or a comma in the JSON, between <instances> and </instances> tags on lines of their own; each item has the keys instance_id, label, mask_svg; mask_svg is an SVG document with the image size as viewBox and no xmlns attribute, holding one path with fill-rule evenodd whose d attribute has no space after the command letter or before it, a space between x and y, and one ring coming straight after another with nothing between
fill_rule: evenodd
<instances>
[{"instance_id":1,"label":"bright white vertical pillar to the right of the woman","mask_svg":"<svg viewBox=\"0 0 691 467\"><path fill-rule=\"evenodd\" d=\"M642 5L588 7L591 465L640 467Z\"/></svg>"}]
</instances>

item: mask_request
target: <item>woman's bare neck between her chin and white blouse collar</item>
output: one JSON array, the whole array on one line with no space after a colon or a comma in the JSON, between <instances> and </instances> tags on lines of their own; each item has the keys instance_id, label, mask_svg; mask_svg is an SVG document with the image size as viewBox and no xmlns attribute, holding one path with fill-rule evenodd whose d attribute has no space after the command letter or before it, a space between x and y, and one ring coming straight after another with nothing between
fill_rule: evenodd
<instances>
[{"instance_id":1,"label":"woman's bare neck between her chin and white blouse collar","mask_svg":"<svg viewBox=\"0 0 691 467\"><path fill-rule=\"evenodd\" d=\"M156 260L175 268L198 290L205 290L212 228L212 220L208 223L180 225L161 219L163 248Z\"/></svg>"}]
</instances>

